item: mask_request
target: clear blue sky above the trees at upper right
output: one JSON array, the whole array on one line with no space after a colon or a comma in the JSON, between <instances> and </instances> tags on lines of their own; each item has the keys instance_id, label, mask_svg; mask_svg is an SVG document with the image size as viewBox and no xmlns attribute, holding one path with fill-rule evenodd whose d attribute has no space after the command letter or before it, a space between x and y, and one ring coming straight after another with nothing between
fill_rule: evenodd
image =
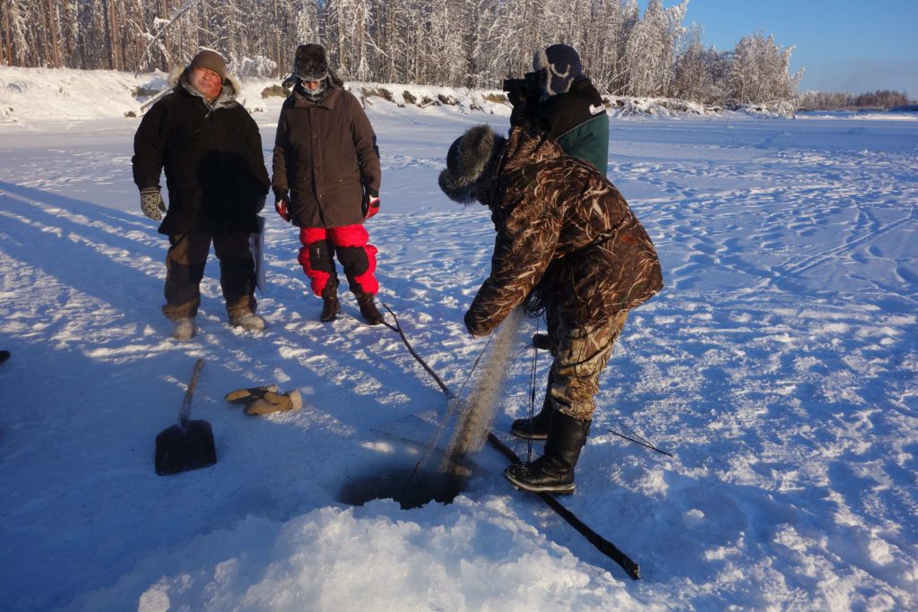
<instances>
[{"instance_id":1,"label":"clear blue sky above the trees at upper right","mask_svg":"<svg viewBox=\"0 0 918 612\"><path fill-rule=\"evenodd\" d=\"M643 13L647 0L638 4ZM684 24L693 21L719 50L759 31L795 47L791 70L806 68L800 91L891 89L918 99L918 0L689 0Z\"/></svg>"}]
</instances>

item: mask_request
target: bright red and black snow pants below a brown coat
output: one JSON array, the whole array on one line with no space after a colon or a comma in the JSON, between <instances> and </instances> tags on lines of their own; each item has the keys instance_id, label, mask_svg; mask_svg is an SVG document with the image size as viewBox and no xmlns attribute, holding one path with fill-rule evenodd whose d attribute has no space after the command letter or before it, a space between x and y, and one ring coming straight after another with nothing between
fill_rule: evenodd
<instances>
[{"instance_id":1,"label":"bright red and black snow pants below a brown coat","mask_svg":"<svg viewBox=\"0 0 918 612\"><path fill-rule=\"evenodd\" d=\"M376 248L369 244L370 235L362 225L342 228L300 228L297 261L309 279L312 293L322 295L325 288L338 286L334 258L344 268L344 275L355 294L376 295Z\"/></svg>"}]
</instances>

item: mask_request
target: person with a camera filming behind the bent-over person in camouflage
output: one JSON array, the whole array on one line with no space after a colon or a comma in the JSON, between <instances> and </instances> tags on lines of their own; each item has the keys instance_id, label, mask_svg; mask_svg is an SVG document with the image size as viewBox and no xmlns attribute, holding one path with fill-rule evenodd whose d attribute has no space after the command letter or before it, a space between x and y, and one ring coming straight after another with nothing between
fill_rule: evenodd
<instances>
[{"instance_id":1,"label":"person with a camera filming behind the bent-over person in camouflage","mask_svg":"<svg viewBox=\"0 0 918 612\"><path fill-rule=\"evenodd\" d=\"M540 49L532 72L504 81L513 111L510 126L541 131L566 155L609 168L609 116L602 97L583 73L577 51L567 45Z\"/></svg>"}]
</instances>

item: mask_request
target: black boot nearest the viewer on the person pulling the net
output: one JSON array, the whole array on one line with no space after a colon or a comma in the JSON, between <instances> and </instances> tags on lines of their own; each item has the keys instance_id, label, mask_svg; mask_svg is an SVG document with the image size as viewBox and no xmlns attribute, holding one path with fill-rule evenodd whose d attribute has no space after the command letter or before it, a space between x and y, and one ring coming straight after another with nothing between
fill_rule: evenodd
<instances>
[{"instance_id":1,"label":"black boot nearest the viewer on the person pulling the net","mask_svg":"<svg viewBox=\"0 0 918 612\"><path fill-rule=\"evenodd\" d=\"M532 493L574 493L574 467L587 443L589 423L555 411L545 454L526 465L510 465L504 476L518 489Z\"/></svg>"}]
</instances>

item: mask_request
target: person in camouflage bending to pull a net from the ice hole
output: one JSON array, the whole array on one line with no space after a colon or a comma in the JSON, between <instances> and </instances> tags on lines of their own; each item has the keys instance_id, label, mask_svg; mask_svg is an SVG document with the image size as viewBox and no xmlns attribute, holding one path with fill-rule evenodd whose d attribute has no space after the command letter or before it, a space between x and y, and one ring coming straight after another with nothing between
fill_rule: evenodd
<instances>
[{"instance_id":1,"label":"person in camouflage bending to pull a net from the ice hole","mask_svg":"<svg viewBox=\"0 0 918 612\"><path fill-rule=\"evenodd\" d=\"M488 206L497 229L490 274L465 314L469 333L489 334L518 306L547 322L545 452L505 475L526 490L572 493L599 374L628 313L663 287L653 242L605 175L523 128L509 139L470 128L450 147L440 186Z\"/></svg>"}]
</instances>

